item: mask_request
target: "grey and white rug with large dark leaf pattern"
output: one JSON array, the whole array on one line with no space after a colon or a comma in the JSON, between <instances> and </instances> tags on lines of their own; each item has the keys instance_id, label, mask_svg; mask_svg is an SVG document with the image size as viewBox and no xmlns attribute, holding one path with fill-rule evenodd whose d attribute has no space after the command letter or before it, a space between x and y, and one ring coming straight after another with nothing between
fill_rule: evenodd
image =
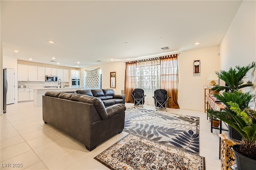
<instances>
[{"instance_id":1,"label":"grey and white rug with large dark leaf pattern","mask_svg":"<svg viewBox=\"0 0 256 170\"><path fill-rule=\"evenodd\" d=\"M123 131L199 154L199 117L130 107Z\"/></svg>"}]
</instances>

